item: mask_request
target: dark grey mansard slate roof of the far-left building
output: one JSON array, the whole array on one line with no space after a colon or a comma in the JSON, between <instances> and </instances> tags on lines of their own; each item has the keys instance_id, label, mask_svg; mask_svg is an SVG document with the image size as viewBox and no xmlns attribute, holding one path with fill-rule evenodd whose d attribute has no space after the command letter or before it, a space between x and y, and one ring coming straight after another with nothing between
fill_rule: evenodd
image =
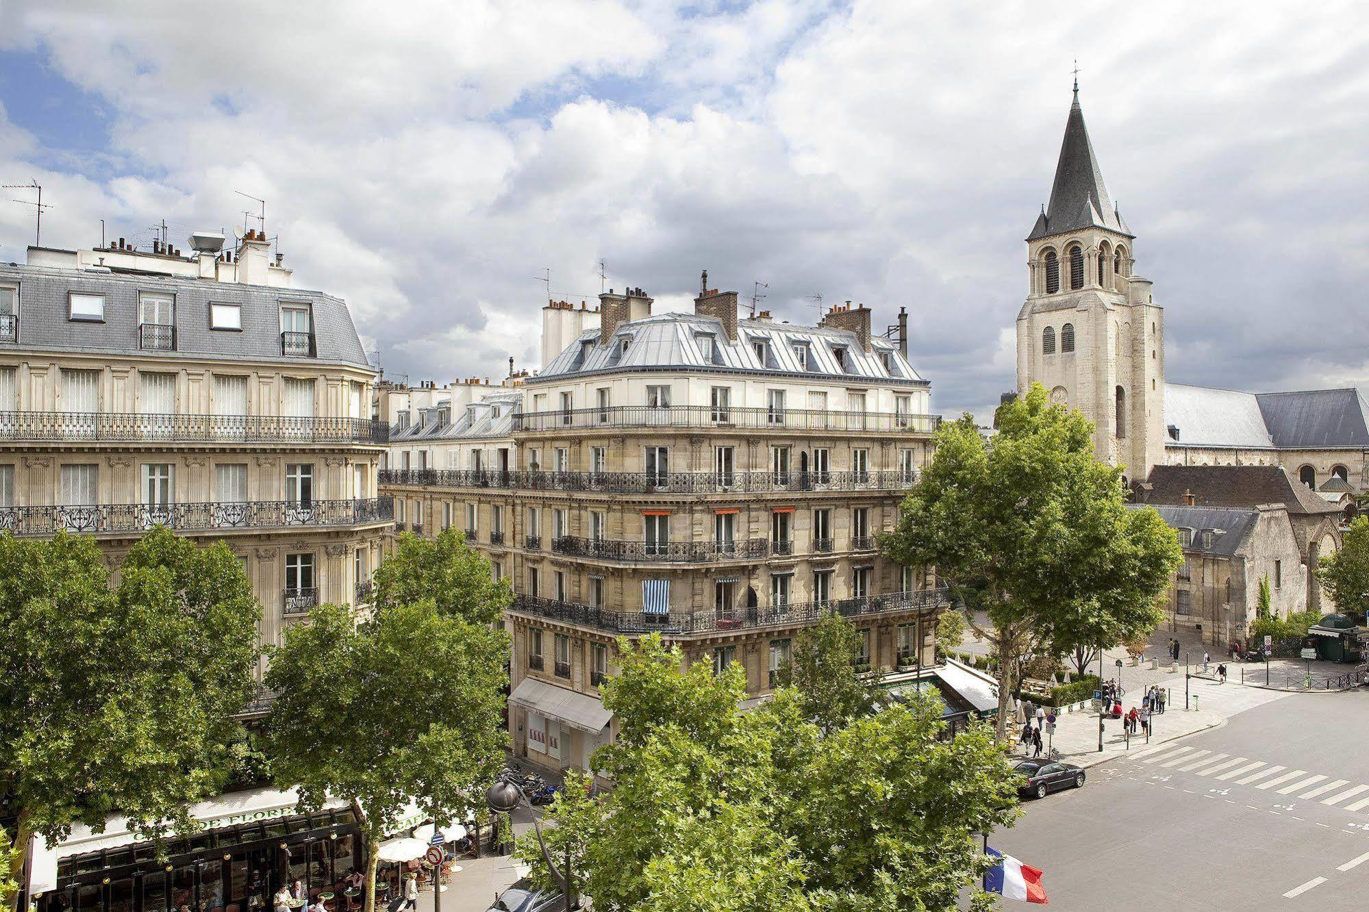
<instances>
[{"instance_id":1,"label":"dark grey mansard slate roof of the far-left building","mask_svg":"<svg viewBox=\"0 0 1369 912\"><path fill-rule=\"evenodd\" d=\"M159 359L324 362L374 370L346 303L322 292L18 264L0 264L0 281L19 285L19 341L15 348L21 351L137 352L138 292L170 292L175 294L177 351L157 351ZM103 294L104 322L68 319L70 292ZM209 301L240 304L242 331L211 330ZM307 301L311 305L316 357L286 357L281 353L282 301Z\"/></svg>"}]
</instances>

